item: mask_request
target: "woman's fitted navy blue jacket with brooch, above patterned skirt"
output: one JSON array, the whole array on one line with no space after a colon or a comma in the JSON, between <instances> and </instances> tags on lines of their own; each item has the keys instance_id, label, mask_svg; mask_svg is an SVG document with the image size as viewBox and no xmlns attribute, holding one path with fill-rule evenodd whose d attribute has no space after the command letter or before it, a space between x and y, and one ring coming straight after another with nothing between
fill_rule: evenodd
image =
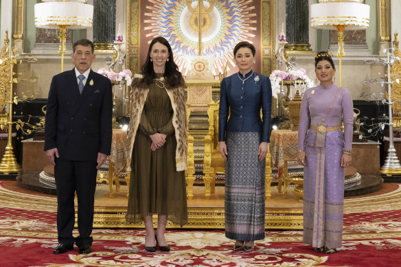
<instances>
[{"instance_id":1,"label":"woman's fitted navy blue jacket with brooch, above patterned skirt","mask_svg":"<svg viewBox=\"0 0 401 267\"><path fill-rule=\"evenodd\" d=\"M242 84L238 73L235 73L221 82L218 141L226 141L227 132L261 132L262 142L270 142L270 79L255 72L241 78L248 79Z\"/></svg>"}]
</instances>

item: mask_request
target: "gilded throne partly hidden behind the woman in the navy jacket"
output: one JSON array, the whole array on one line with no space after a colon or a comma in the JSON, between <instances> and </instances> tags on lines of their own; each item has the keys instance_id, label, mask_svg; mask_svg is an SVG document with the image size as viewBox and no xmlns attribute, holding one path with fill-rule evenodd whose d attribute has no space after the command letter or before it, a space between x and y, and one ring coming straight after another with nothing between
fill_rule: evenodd
<instances>
[{"instance_id":1,"label":"gilded throne partly hidden behind the woman in the navy jacket","mask_svg":"<svg viewBox=\"0 0 401 267\"><path fill-rule=\"evenodd\" d=\"M216 174L225 173L225 161L222 159L220 152L218 151L218 102L209 102L209 108L207 110L207 116L209 120L209 132L205 136L205 154L203 158L203 181L205 183L205 198L209 199L211 194L214 193L214 187L216 185ZM265 176L265 198L271 198L271 163L270 163L270 152L266 155L266 176Z\"/></svg>"}]
</instances>

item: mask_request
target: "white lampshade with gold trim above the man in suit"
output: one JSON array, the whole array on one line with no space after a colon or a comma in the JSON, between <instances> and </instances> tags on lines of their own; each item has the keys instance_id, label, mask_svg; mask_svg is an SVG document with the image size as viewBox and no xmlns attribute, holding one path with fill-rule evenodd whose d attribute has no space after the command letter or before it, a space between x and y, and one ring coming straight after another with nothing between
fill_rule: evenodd
<instances>
[{"instance_id":1,"label":"white lampshade with gold trim above the man in suit","mask_svg":"<svg viewBox=\"0 0 401 267\"><path fill-rule=\"evenodd\" d=\"M80 2L47 2L34 5L36 27L69 29L92 27L93 5Z\"/></svg>"}]
</instances>

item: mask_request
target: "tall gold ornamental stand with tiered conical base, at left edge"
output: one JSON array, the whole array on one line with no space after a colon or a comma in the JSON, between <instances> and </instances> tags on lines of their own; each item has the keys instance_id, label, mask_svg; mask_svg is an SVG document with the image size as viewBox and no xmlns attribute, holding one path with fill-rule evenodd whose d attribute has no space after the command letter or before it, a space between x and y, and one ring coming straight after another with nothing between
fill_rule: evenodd
<instances>
[{"instance_id":1,"label":"tall gold ornamental stand with tiered conical base, at left edge","mask_svg":"<svg viewBox=\"0 0 401 267\"><path fill-rule=\"evenodd\" d=\"M8 31L5 31L5 38L4 38L4 47L5 51L8 51L8 44L10 43L10 40L8 39ZM12 84L14 82L13 79L13 66L14 66L14 58L13 58L13 49L10 49L10 57L3 58L3 60L8 60L10 62L10 77L7 82L10 83L10 97L8 100L8 121L7 121L7 126L8 126L8 141L7 141L7 146L5 146L5 152L3 155L3 158L1 159L0 163L0 172L3 174L11 174L11 173L19 173L21 172L21 167L19 164L16 162L16 158L14 156L13 148L12 148L12 143L11 143L11 134L12 134Z\"/></svg>"}]
</instances>

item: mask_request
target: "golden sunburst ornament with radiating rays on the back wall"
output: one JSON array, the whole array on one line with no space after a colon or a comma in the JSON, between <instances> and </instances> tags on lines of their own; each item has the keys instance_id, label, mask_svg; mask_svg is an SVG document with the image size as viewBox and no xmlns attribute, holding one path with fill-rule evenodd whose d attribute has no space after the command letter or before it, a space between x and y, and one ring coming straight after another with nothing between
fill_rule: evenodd
<instances>
[{"instance_id":1,"label":"golden sunburst ornament with radiating rays on the back wall","mask_svg":"<svg viewBox=\"0 0 401 267\"><path fill-rule=\"evenodd\" d=\"M156 36L168 40L174 62L183 73L187 72L188 56L213 56L209 71L223 73L227 62L228 70L235 66L232 56L235 45L255 37L257 10L249 5L250 2L203 1L203 11L208 12L203 19L201 53L198 49L198 26L194 20L197 13L193 12L198 8L198 1L149 1L144 14L144 32L148 43ZM210 7L211 4L213 7Z\"/></svg>"}]
</instances>

